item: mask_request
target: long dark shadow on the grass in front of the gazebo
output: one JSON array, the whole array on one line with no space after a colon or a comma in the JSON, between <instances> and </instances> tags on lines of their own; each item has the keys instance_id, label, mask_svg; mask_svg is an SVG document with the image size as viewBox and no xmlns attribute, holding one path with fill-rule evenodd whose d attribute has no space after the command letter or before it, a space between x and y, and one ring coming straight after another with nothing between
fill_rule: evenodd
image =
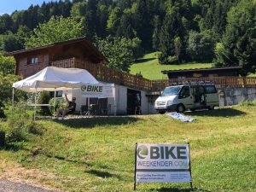
<instances>
[{"instance_id":1,"label":"long dark shadow on the grass in front of the gazebo","mask_svg":"<svg viewBox=\"0 0 256 192\"><path fill-rule=\"evenodd\" d=\"M84 119L66 119L56 120L55 122L66 125L71 128L93 128L101 125L127 125L136 122L138 119L134 117L96 117Z\"/></svg>"}]
</instances>

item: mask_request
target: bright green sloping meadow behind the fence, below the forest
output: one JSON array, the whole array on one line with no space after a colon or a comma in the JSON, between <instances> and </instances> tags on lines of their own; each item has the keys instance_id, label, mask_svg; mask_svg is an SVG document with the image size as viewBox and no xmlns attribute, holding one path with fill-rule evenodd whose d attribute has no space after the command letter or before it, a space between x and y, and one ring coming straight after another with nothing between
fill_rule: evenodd
<instances>
[{"instance_id":1,"label":"bright green sloping meadow behind the fence, below the forest","mask_svg":"<svg viewBox=\"0 0 256 192\"><path fill-rule=\"evenodd\" d=\"M146 79L167 79L167 75L161 73L163 70L177 70L190 68L207 68L212 67L212 63L185 63L180 65L160 65L158 61L158 52L144 55L142 59L137 60L131 65L131 74L141 72Z\"/></svg>"}]
</instances>

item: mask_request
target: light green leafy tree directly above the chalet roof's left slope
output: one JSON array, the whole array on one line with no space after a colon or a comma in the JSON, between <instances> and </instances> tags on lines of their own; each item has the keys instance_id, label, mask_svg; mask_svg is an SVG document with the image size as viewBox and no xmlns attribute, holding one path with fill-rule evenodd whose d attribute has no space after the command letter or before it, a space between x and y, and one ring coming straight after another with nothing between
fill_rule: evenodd
<instances>
[{"instance_id":1,"label":"light green leafy tree directly above the chalet roof's left slope","mask_svg":"<svg viewBox=\"0 0 256 192\"><path fill-rule=\"evenodd\" d=\"M81 37L83 26L71 17L51 17L47 23L39 24L32 36L26 38L26 48L42 46Z\"/></svg>"}]
</instances>

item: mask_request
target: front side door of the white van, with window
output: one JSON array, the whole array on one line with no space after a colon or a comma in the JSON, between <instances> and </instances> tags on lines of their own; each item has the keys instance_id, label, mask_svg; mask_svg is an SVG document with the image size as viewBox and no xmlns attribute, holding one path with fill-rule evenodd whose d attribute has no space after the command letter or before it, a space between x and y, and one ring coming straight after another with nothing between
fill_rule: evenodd
<instances>
[{"instance_id":1,"label":"front side door of the white van, with window","mask_svg":"<svg viewBox=\"0 0 256 192\"><path fill-rule=\"evenodd\" d=\"M193 108L194 102L191 96L191 91L189 86L183 86L178 94L179 103L183 103L185 108Z\"/></svg>"}]
</instances>

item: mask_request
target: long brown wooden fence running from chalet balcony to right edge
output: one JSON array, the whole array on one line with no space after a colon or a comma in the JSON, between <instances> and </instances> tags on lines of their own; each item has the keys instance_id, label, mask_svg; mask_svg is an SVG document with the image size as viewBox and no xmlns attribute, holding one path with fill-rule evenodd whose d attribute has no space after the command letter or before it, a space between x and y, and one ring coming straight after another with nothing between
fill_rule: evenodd
<instances>
[{"instance_id":1,"label":"long brown wooden fence running from chalet balcony to right edge","mask_svg":"<svg viewBox=\"0 0 256 192\"><path fill-rule=\"evenodd\" d=\"M205 81L212 82L220 87L256 87L256 78L246 77L212 77L212 78L189 78L189 79L160 79L148 80L130 73L120 72L119 70L105 67L89 61L71 58L61 61L52 61L51 66L64 68L82 68L89 71L96 79L104 82L115 83L134 87L142 90L161 91L166 86L174 83Z\"/></svg>"}]
</instances>

